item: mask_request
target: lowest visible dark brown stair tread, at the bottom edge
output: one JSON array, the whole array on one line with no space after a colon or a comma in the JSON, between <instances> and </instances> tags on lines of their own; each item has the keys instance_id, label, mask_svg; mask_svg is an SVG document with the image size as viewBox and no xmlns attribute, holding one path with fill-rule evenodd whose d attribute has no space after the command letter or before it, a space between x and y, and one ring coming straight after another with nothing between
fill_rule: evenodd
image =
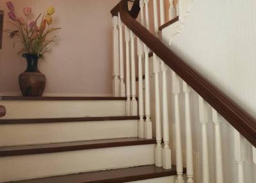
<instances>
[{"instance_id":1,"label":"lowest visible dark brown stair tread, at the bottom edge","mask_svg":"<svg viewBox=\"0 0 256 183\"><path fill-rule=\"evenodd\" d=\"M131 182L137 180L154 179L176 175L175 166L170 170L158 168L154 164L132 168L120 168L116 170L94 171L88 173L77 173L41 179L20 180L17 183L104 183L104 182ZM15 183L14 182L14 183ZM8 183L8 182L6 182Z\"/></svg>"}]
</instances>

